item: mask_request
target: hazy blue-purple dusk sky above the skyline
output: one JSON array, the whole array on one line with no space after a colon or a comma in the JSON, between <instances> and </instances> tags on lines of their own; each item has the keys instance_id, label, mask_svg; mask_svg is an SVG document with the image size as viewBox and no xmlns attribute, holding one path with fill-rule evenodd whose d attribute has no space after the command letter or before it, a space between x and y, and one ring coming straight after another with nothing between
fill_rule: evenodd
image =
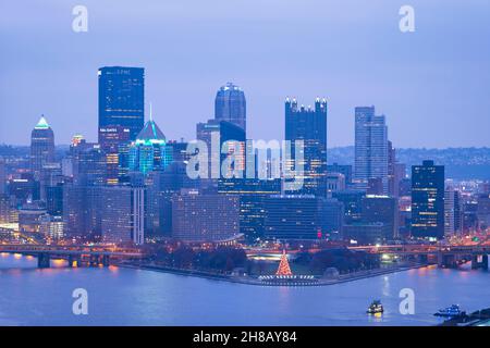
<instances>
[{"instance_id":1,"label":"hazy blue-purple dusk sky above the skyline","mask_svg":"<svg viewBox=\"0 0 490 348\"><path fill-rule=\"evenodd\" d=\"M77 4L88 33L72 30ZM488 0L2 0L0 144L27 145L40 114L57 144L95 141L97 70L124 65L145 67L169 139L194 139L233 82L248 138L282 139L285 97L320 96L329 147L353 145L354 108L371 104L395 147L490 146L489 18Z\"/></svg>"}]
</instances>

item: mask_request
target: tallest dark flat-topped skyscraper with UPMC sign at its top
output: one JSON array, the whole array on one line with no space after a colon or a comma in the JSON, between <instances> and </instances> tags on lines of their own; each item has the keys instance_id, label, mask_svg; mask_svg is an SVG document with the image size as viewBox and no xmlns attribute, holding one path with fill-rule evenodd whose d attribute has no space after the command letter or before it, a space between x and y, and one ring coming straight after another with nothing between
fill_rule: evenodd
<instances>
[{"instance_id":1,"label":"tallest dark flat-topped skyscraper with UPMC sign at its top","mask_svg":"<svg viewBox=\"0 0 490 348\"><path fill-rule=\"evenodd\" d=\"M122 126L122 132L127 129L128 139L135 140L145 123L145 70L105 66L99 69L98 75L99 144L102 148L110 145L102 130L113 126Z\"/></svg>"}]
</instances>

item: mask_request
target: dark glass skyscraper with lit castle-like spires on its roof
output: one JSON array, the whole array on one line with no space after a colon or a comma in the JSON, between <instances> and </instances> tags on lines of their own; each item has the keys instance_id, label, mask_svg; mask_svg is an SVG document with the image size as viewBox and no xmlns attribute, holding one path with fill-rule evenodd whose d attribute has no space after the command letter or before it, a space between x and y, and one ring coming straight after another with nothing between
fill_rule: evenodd
<instances>
[{"instance_id":1,"label":"dark glass skyscraper with lit castle-like spires on its roof","mask_svg":"<svg viewBox=\"0 0 490 348\"><path fill-rule=\"evenodd\" d=\"M315 100L315 109L297 107L296 99L285 101L285 139L295 146L304 141L304 185L294 195L327 196L327 101ZM291 150L295 160L295 151ZM294 165L295 163L293 163ZM290 164L286 164L290 165Z\"/></svg>"}]
</instances>

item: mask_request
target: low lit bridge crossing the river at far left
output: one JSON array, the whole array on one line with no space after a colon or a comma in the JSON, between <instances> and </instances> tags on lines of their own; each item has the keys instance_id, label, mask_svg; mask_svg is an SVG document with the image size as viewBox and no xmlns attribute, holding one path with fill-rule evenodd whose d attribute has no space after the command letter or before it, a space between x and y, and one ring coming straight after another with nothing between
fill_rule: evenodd
<instances>
[{"instance_id":1,"label":"low lit bridge crossing the river at far left","mask_svg":"<svg viewBox=\"0 0 490 348\"><path fill-rule=\"evenodd\" d=\"M69 266L108 266L111 260L139 259L137 249L105 246L51 246L27 244L0 244L0 252L20 253L37 258L38 268L49 268L51 259L64 259Z\"/></svg>"}]
</instances>

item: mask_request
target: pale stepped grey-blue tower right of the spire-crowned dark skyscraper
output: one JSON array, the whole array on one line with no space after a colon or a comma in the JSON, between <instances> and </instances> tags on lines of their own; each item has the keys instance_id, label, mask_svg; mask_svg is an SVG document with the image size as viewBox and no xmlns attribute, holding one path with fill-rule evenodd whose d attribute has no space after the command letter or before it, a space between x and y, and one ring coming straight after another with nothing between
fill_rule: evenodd
<instances>
[{"instance_id":1,"label":"pale stepped grey-blue tower right of the spire-crowned dark skyscraper","mask_svg":"<svg viewBox=\"0 0 490 348\"><path fill-rule=\"evenodd\" d=\"M380 179L388 194L388 127L384 115L376 115L375 107L355 109L354 181L367 189L369 179Z\"/></svg>"}]
</instances>

